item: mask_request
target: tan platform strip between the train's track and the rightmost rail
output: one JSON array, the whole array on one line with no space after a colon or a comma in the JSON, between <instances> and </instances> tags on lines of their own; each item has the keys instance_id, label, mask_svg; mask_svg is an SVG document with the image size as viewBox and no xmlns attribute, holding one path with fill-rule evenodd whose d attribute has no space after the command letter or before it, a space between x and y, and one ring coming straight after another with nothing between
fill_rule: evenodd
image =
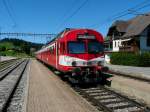
<instances>
[{"instance_id":1,"label":"tan platform strip between the train's track and the rightmost rail","mask_svg":"<svg viewBox=\"0 0 150 112\"><path fill-rule=\"evenodd\" d=\"M150 107L150 83L122 76L112 77L111 88L115 89L132 99L147 104Z\"/></svg>"}]
</instances>

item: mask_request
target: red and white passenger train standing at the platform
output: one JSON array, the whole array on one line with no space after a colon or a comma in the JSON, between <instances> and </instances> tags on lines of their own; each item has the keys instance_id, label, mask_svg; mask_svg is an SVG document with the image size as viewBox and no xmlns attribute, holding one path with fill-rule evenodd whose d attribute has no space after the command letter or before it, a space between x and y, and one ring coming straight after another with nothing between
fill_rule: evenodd
<instances>
[{"instance_id":1,"label":"red and white passenger train standing at the platform","mask_svg":"<svg viewBox=\"0 0 150 112\"><path fill-rule=\"evenodd\" d=\"M103 37L91 29L66 28L36 52L36 58L68 77L73 83L108 83L104 74Z\"/></svg>"}]
</instances>

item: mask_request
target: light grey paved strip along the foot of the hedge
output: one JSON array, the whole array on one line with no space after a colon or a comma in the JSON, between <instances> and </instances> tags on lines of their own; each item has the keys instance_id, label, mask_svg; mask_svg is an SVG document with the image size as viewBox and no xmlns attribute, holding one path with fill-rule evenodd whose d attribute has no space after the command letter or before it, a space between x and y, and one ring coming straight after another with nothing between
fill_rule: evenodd
<instances>
[{"instance_id":1,"label":"light grey paved strip along the foot of the hedge","mask_svg":"<svg viewBox=\"0 0 150 112\"><path fill-rule=\"evenodd\" d=\"M130 75L150 81L150 67L134 67L123 65L112 65L105 63L105 66L109 67L110 71L121 73L124 75Z\"/></svg>"}]
</instances>

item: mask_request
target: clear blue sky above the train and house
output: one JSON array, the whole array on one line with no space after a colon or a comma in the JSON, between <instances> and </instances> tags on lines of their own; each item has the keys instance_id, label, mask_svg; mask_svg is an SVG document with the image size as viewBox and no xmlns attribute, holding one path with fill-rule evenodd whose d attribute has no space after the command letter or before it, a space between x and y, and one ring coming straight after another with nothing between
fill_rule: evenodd
<instances>
[{"instance_id":1,"label":"clear blue sky above the train and house","mask_svg":"<svg viewBox=\"0 0 150 112\"><path fill-rule=\"evenodd\" d=\"M10 10L10 15L4 1ZM106 36L116 20L110 18L142 2L150 0L0 0L0 27L2 32L58 33L66 27L92 28ZM80 6L80 10L69 18ZM150 5L138 13L150 12ZM117 20L134 17L128 14ZM16 25L15 22L16 21ZM20 37L21 38L21 37ZM22 37L28 41L45 42L42 38Z\"/></svg>"}]
</instances>

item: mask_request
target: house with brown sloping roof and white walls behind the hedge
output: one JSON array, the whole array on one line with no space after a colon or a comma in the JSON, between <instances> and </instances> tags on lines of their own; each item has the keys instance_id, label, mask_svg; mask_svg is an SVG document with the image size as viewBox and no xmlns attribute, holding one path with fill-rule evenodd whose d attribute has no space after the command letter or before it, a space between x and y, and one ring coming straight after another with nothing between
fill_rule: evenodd
<instances>
[{"instance_id":1,"label":"house with brown sloping roof and white walls behind the hedge","mask_svg":"<svg viewBox=\"0 0 150 112\"><path fill-rule=\"evenodd\" d=\"M114 52L150 51L150 14L114 22L107 36Z\"/></svg>"}]
</instances>

